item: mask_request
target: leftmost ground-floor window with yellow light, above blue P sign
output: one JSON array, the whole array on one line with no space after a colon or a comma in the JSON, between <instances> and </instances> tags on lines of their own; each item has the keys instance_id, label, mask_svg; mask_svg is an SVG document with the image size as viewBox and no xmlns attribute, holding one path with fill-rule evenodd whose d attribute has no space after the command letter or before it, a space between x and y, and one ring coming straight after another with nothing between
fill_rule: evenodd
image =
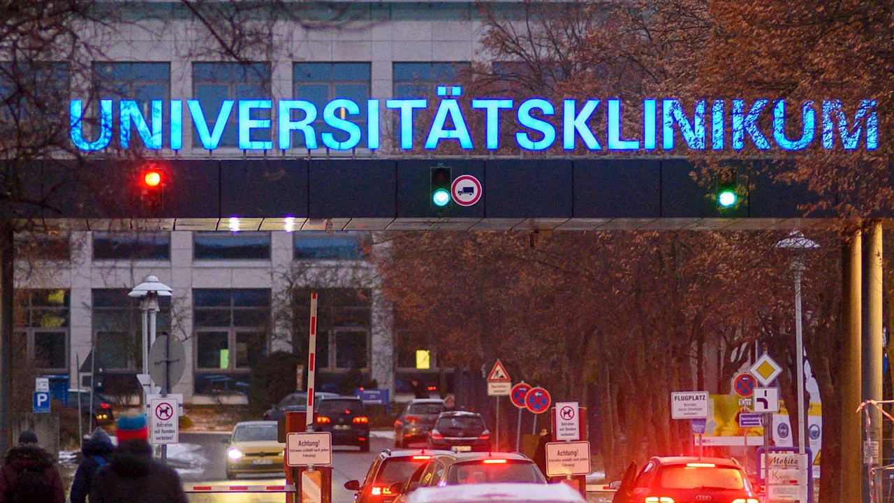
<instances>
[{"instance_id":1,"label":"leftmost ground-floor window with yellow light, above blue P sign","mask_svg":"<svg viewBox=\"0 0 894 503\"><path fill-rule=\"evenodd\" d=\"M18 350L45 372L68 371L68 290L20 290L16 295Z\"/></svg>"}]
</instances>

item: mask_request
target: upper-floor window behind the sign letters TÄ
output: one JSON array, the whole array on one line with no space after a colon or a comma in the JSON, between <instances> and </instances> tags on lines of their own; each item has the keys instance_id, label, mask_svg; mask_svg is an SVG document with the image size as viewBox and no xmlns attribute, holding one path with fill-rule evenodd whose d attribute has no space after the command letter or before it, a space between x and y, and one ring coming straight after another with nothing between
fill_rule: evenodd
<instances>
[{"instance_id":1,"label":"upper-floor window behind the sign letters T\u00c4","mask_svg":"<svg viewBox=\"0 0 894 503\"><path fill-rule=\"evenodd\" d=\"M435 87L456 84L459 73L468 70L468 63L395 63L393 66L394 98L432 98L435 96ZM426 131L419 124L421 110L413 111L413 138L414 146L420 144L419 139ZM401 140L400 118L394 115L394 139L398 145Z\"/></svg>"}]
</instances>

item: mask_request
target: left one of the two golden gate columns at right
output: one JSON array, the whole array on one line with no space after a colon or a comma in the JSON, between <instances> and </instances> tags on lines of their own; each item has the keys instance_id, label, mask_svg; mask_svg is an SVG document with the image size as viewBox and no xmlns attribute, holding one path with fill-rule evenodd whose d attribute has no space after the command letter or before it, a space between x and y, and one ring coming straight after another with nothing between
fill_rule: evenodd
<instances>
[{"instance_id":1,"label":"left one of the two golden gate columns at right","mask_svg":"<svg viewBox=\"0 0 894 503\"><path fill-rule=\"evenodd\" d=\"M842 344L841 375L841 469L839 501L863 501L863 477L860 456L863 443L860 428L860 414L855 413L862 402L863 378L860 369L863 364L863 266L861 250L863 234L859 227L842 243L841 271L844 288L845 327Z\"/></svg>"}]
</instances>

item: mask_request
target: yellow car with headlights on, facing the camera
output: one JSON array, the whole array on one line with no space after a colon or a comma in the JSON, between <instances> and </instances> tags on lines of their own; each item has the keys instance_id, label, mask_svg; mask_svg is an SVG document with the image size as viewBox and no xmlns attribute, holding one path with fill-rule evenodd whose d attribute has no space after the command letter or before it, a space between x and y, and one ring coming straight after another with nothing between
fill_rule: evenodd
<instances>
[{"instance_id":1,"label":"yellow car with headlights on, facing the camera","mask_svg":"<svg viewBox=\"0 0 894 503\"><path fill-rule=\"evenodd\" d=\"M283 474L285 444L276 440L275 421L247 421L236 424L226 449L226 478L240 473ZM284 475L283 475L284 476Z\"/></svg>"}]
</instances>

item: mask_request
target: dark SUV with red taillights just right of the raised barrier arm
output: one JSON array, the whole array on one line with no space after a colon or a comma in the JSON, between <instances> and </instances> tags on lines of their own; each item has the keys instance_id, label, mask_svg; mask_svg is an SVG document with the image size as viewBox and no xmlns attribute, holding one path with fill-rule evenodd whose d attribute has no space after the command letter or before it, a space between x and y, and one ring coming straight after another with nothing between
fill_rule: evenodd
<instances>
[{"instance_id":1,"label":"dark SUV with red taillights just right of the raised barrier arm","mask_svg":"<svg viewBox=\"0 0 894 503\"><path fill-rule=\"evenodd\" d=\"M357 446L369 452L369 417L359 398L326 396L316 403L314 413L311 429L332 433L333 446Z\"/></svg>"}]
</instances>

